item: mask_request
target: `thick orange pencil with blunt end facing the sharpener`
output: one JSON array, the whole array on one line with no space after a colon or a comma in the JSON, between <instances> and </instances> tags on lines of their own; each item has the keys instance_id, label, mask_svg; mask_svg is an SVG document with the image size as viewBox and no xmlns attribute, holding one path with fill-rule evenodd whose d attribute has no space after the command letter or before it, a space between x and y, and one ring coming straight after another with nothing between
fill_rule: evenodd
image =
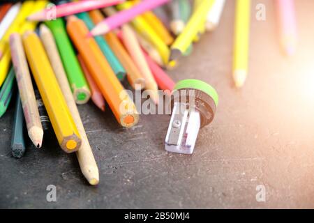
<instances>
[{"instance_id":1,"label":"thick orange pencil with blunt end facing the sharpener","mask_svg":"<svg viewBox=\"0 0 314 223\"><path fill-rule=\"evenodd\" d=\"M114 75L94 38L88 37L87 26L72 15L68 17L66 29L117 121L126 128L135 125L139 115L134 102Z\"/></svg>"}]
</instances>

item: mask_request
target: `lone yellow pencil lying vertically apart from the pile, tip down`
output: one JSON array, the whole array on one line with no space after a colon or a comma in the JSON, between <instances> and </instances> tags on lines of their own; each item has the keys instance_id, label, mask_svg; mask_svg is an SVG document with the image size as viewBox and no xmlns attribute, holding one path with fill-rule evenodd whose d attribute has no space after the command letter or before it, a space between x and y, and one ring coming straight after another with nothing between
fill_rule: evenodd
<instances>
[{"instance_id":1,"label":"lone yellow pencil lying vertically apart from the pile, tip down","mask_svg":"<svg viewBox=\"0 0 314 223\"><path fill-rule=\"evenodd\" d=\"M233 79L241 88L248 75L251 0L237 0L234 24Z\"/></svg>"}]
</instances>

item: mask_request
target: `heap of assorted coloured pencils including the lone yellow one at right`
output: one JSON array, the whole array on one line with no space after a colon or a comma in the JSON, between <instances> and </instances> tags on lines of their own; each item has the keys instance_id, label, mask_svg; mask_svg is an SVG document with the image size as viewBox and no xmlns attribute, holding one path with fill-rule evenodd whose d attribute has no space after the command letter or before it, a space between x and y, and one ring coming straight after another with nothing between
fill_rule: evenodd
<instances>
[{"instance_id":1,"label":"heap of assorted coloured pencils including the lone yellow one at right","mask_svg":"<svg viewBox=\"0 0 314 223\"><path fill-rule=\"evenodd\" d=\"M236 6L233 77L238 87L247 75L250 2L237 0ZM158 89L174 88L165 70L188 56L202 33L216 29L225 0L55 3L0 6L0 117L18 89L13 156L24 154L24 128L38 148L52 129L63 151L77 154L82 173L96 185L98 167L77 105L91 99L105 111L107 102L121 126L136 125L139 114L121 81L126 77L135 90L149 90L158 104Z\"/></svg>"}]
</instances>

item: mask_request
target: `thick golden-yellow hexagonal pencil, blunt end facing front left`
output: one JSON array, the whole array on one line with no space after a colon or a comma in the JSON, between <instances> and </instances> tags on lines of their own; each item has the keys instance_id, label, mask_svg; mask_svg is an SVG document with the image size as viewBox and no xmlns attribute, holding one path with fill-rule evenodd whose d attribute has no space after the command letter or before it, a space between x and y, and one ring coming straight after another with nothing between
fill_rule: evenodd
<instances>
[{"instance_id":1,"label":"thick golden-yellow hexagonal pencil, blunt end facing front left","mask_svg":"<svg viewBox=\"0 0 314 223\"><path fill-rule=\"evenodd\" d=\"M80 148L81 137L66 105L66 100L63 98L43 44L33 31L24 33L23 43L33 77L59 144L66 153L75 152Z\"/></svg>"}]
</instances>

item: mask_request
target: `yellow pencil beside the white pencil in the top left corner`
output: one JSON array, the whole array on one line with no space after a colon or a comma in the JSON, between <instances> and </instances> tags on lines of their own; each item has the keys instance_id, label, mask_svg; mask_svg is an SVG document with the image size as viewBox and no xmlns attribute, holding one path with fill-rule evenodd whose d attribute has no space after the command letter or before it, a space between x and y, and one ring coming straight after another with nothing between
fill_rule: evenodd
<instances>
[{"instance_id":1,"label":"yellow pencil beside the white pencil in the top left corner","mask_svg":"<svg viewBox=\"0 0 314 223\"><path fill-rule=\"evenodd\" d=\"M27 15L31 13L34 5L35 1L24 1L24 3L22 3L20 11L15 17L15 20L10 24L10 27L6 30L6 33L4 33L3 37L0 40L0 58L8 47L10 34L19 31L21 24L25 21Z\"/></svg>"}]
</instances>

